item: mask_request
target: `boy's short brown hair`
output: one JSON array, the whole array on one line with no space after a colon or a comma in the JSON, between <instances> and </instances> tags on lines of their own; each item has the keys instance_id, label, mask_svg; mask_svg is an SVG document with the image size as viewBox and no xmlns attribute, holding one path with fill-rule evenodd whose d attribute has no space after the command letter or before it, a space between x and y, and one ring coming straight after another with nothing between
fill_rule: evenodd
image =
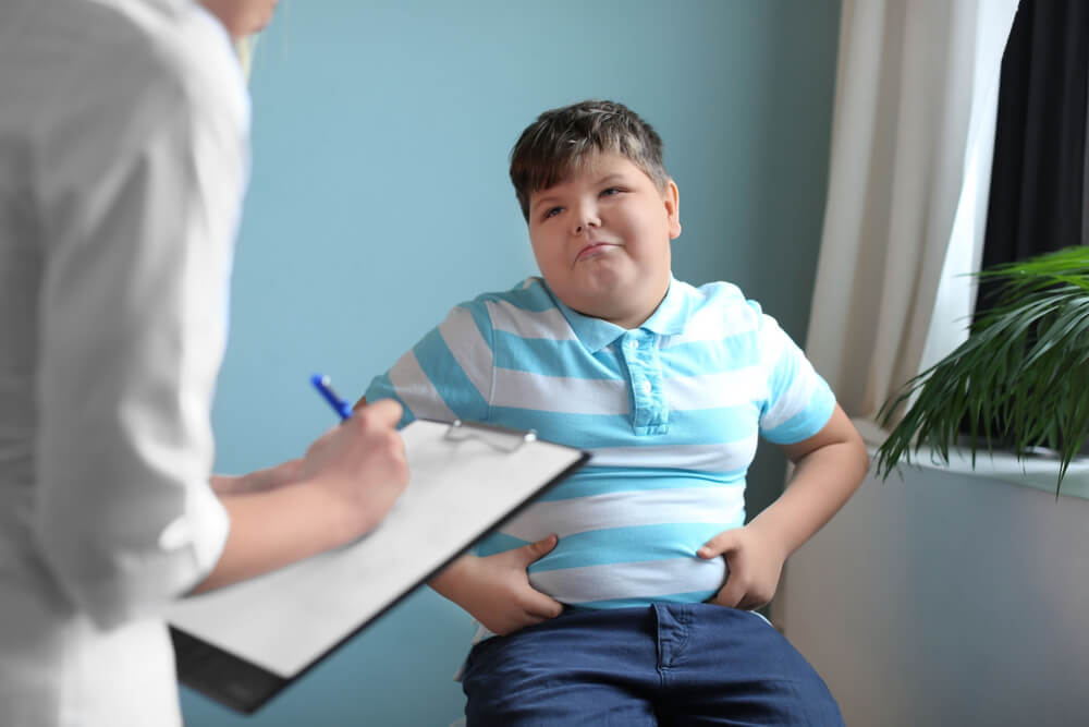
<instances>
[{"instance_id":1,"label":"boy's short brown hair","mask_svg":"<svg viewBox=\"0 0 1089 727\"><path fill-rule=\"evenodd\" d=\"M526 126L511 149L511 182L526 220L529 195L562 182L594 152L627 157L660 190L670 181L658 132L623 104L587 100L551 109Z\"/></svg>"}]
</instances>

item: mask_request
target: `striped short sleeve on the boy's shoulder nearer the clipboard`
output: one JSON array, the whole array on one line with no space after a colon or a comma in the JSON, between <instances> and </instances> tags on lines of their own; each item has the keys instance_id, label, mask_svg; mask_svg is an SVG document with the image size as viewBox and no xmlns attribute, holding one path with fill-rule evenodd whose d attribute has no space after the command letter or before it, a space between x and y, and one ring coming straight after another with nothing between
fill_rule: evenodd
<instances>
[{"instance_id":1,"label":"striped short sleeve on the boy's shoulder nearer the clipboard","mask_svg":"<svg viewBox=\"0 0 1089 727\"><path fill-rule=\"evenodd\" d=\"M488 421L494 379L494 339L487 305L477 299L454 307L389 372L367 388L367 401L396 399L402 425L414 419Z\"/></svg>"}]
</instances>

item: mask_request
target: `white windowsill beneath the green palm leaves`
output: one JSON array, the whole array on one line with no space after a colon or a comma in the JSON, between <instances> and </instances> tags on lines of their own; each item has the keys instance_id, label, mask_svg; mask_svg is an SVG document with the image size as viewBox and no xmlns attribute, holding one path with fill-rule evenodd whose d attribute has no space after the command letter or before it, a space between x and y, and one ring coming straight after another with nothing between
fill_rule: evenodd
<instances>
[{"instance_id":1,"label":"white windowsill beneath the green palm leaves","mask_svg":"<svg viewBox=\"0 0 1089 727\"><path fill-rule=\"evenodd\" d=\"M888 433L870 420L855 419L853 421L866 441L870 457L876 457L877 448L889 436ZM1017 458L1010 452L989 453L986 450L977 450L976 463L972 467L971 450L964 447L950 447L950 461L945 463L929 447L922 447L918 452L911 451L910 463L902 462L898 467L941 470L1001 480L1054 495L1055 484L1059 480L1059 458L1052 455L1033 455L1017 461ZM1077 457L1070 462L1060 492L1061 497L1089 499L1089 457Z\"/></svg>"}]
</instances>

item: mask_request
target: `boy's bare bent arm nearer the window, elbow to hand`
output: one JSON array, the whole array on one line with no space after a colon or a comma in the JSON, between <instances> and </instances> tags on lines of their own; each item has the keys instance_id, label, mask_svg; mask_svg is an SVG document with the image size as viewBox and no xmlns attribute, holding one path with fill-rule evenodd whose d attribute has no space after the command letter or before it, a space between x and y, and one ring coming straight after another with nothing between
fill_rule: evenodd
<instances>
[{"instance_id":1,"label":"boy's bare bent arm nearer the window, elbow to hand","mask_svg":"<svg viewBox=\"0 0 1089 727\"><path fill-rule=\"evenodd\" d=\"M795 463L786 492L747 525L720 533L698 552L726 559L730 574L714 603L757 608L771 601L787 556L831 520L869 468L866 445L839 404L816 435L780 448Z\"/></svg>"}]
</instances>

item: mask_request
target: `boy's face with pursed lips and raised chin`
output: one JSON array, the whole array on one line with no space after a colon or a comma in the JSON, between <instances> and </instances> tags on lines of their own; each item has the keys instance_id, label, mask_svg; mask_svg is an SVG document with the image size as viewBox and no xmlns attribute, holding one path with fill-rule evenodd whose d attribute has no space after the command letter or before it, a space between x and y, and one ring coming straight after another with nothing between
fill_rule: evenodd
<instances>
[{"instance_id":1,"label":"boy's face with pursed lips and raised chin","mask_svg":"<svg viewBox=\"0 0 1089 727\"><path fill-rule=\"evenodd\" d=\"M529 241L566 305L637 328L665 298L670 241L681 234L677 186L665 190L627 157L597 153L529 195Z\"/></svg>"}]
</instances>

